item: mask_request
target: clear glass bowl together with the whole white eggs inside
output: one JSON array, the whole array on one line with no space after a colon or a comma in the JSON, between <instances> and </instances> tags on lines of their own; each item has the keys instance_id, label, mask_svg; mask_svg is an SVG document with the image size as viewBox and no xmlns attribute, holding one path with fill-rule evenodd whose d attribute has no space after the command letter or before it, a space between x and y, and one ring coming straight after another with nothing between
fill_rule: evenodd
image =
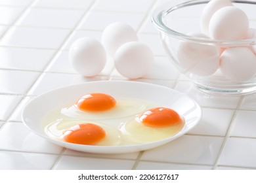
<instances>
[{"instance_id":1,"label":"clear glass bowl together with the whole white eggs inside","mask_svg":"<svg viewBox=\"0 0 256 183\"><path fill-rule=\"evenodd\" d=\"M256 92L256 1L171 0L154 10L173 64L203 92Z\"/></svg>"}]
</instances>

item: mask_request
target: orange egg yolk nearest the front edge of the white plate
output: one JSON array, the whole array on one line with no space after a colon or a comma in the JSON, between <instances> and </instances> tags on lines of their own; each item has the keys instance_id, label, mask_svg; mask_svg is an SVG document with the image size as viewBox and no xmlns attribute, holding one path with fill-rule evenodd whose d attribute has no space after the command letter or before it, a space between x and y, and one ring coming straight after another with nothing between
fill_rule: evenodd
<instances>
[{"instance_id":1,"label":"orange egg yolk nearest the front edge of the white plate","mask_svg":"<svg viewBox=\"0 0 256 183\"><path fill-rule=\"evenodd\" d=\"M66 142L95 145L106 137L106 132L99 125L79 124L64 131L63 135Z\"/></svg>"}]
</instances>

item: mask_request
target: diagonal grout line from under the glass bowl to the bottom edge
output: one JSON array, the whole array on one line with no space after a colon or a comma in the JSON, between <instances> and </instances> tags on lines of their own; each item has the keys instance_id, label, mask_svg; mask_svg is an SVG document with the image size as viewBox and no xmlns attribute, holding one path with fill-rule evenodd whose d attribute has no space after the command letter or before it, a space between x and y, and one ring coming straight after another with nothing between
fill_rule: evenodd
<instances>
[{"instance_id":1,"label":"diagonal grout line from under the glass bowl to the bottom edge","mask_svg":"<svg viewBox=\"0 0 256 183\"><path fill-rule=\"evenodd\" d=\"M223 143L221 144L221 148L219 150L219 153L217 154L217 158L215 159L215 163L213 165L213 169L216 169L219 163L219 160L221 159L221 155L223 154L223 150L224 147L226 146L226 142L228 141L228 139L230 138L230 133L232 131L232 128L234 126L234 120L236 119L236 116L238 114L238 112L240 111L240 107L242 105L242 101L244 100L244 96L240 97L240 100L238 101L238 105L236 106L235 110L234 110L234 114L232 115L232 118L230 120L230 124L228 126L228 129L226 131L226 135L223 139Z\"/></svg>"}]
</instances>

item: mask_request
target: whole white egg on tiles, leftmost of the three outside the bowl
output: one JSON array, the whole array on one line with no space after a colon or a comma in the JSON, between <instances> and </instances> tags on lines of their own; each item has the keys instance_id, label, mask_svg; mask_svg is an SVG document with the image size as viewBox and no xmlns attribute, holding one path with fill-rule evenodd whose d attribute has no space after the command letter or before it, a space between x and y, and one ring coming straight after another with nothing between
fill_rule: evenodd
<instances>
[{"instance_id":1,"label":"whole white egg on tiles, leftmost of the three outside the bowl","mask_svg":"<svg viewBox=\"0 0 256 183\"><path fill-rule=\"evenodd\" d=\"M75 71L83 76L95 76L106 64L106 51L96 39L83 37L70 47L70 62Z\"/></svg>"}]
</instances>

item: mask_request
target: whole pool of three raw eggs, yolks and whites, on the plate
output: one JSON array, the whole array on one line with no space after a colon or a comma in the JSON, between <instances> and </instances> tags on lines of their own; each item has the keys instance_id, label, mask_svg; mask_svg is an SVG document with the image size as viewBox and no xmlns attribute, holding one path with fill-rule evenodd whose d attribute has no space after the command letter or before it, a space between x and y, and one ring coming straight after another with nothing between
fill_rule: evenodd
<instances>
[{"instance_id":1,"label":"whole pool of three raw eggs, yolks and whites, on the plate","mask_svg":"<svg viewBox=\"0 0 256 183\"><path fill-rule=\"evenodd\" d=\"M45 133L60 141L123 146L160 141L181 131L184 119L171 108L141 99L89 93L43 120Z\"/></svg>"}]
</instances>

